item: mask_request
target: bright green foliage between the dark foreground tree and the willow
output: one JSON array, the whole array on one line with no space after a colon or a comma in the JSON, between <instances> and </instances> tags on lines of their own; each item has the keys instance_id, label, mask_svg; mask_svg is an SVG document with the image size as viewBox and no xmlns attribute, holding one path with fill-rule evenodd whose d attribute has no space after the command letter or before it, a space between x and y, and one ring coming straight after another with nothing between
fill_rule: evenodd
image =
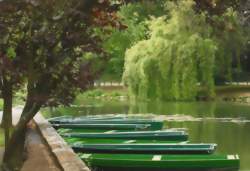
<instances>
[{"instance_id":1,"label":"bright green foliage between the dark foreground tree and the willow","mask_svg":"<svg viewBox=\"0 0 250 171\"><path fill-rule=\"evenodd\" d=\"M111 29L111 35L105 38L103 47L110 56L106 74L121 78L125 52L138 41L147 37L146 21L151 16L163 15L163 0L157 2L142 1L121 6L118 17L125 29Z\"/></svg>"}]
</instances>

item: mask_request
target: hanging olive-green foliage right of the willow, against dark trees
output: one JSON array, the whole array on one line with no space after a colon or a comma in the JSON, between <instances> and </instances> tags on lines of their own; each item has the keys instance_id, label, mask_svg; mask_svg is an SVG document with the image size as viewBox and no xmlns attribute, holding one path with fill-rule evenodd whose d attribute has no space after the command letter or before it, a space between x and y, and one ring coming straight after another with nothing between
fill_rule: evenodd
<instances>
[{"instance_id":1,"label":"hanging olive-green foliage right of the willow, against dark trees","mask_svg":"<svg viewBox=\"0 0 250 171\"><path fill-rule=\"evenodd\" d=\"M213 16L212 20L219 25L213 27L213 37L219 49L216 53L215 78L231 81L233 65L238 72L241 70L240 56L246 47L247 36L244 35L237 12L232 8L221 16Z\"/></svg>"}]
</instances>

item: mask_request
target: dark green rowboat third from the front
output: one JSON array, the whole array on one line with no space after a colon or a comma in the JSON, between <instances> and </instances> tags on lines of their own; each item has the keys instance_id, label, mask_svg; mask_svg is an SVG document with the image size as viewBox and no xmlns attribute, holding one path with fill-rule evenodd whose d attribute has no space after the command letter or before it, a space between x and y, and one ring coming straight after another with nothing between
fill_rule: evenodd
<instances>
[{"instance_id":1,"label":"dark green rowboat third from the front","mask_svg":"<svg viewBox=\"0 0 250 171\"><path fill-rule=\"evenodd\" d=\"M68 138L105 138L105 139L143 139L165 141L187 141L188 135L184 131L135 131L135 132L106 132L106 133L65 133Z\"/></svg>"}]
</instances>

